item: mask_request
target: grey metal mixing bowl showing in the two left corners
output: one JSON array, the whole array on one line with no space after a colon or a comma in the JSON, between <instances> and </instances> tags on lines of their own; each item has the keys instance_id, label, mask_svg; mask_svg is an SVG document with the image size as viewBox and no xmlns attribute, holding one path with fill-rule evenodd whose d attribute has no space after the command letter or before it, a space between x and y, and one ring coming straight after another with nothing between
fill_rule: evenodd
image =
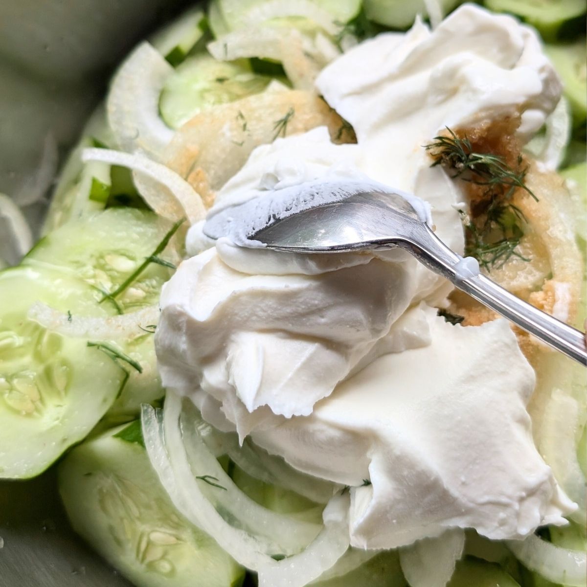
<instances>
[{"instance_id":1,"label":"grey metal mixing bowl showing in the two left corners","mask_svg":"<svg viewBox=\"0 0 587 587\"><path fill-rule=\"evenodd\" d=\"M114 66L186 4L0 2L0 192L14 194L24 185L41 160L47 136L60 153L67 152ZM31 87L35 97L19 99ZM31 207L29 220L38 224L44 209ZM131 586L70 528L55 467L33 480L0 482L0 587L16 586Z\"/></svg>"}]
</instances>

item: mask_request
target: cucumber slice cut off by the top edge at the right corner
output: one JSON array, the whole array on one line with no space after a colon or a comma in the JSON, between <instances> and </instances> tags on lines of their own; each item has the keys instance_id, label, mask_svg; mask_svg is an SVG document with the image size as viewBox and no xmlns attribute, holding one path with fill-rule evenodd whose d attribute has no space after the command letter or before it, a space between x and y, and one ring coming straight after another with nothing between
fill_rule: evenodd
<instances>
[{"instance_id":1,"label":"cucumber slice cut off by the top edge at the right corner","mask_svg":"<svg viewBox=\"0 0 587 587\"><path fill-rule=\"evenodd\" d=\"M485 0L494 12L509 12L535 26L545 39L554 39L561 26L587 10L585 0Z\"/></svg>"}]
</instances>

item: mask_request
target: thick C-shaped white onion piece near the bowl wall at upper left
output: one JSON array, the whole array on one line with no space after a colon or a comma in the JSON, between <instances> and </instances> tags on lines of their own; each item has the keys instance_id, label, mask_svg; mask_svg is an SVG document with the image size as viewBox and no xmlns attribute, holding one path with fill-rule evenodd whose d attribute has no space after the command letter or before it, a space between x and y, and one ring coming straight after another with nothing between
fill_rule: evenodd
<instances>
[{"instance_id":1,"label":"thick C-shaped white onion piece near the bowl wall at upper left","mask_svg":"<svg viewBox=\"0 0 587 587\"><path fill-rule=\"evenodd\" d=\"M141 43L112 80L108 123L120 149L157 157L173 137L159 116L159 97L173 68L149 43Z\"/></svg>"}]
</instances>

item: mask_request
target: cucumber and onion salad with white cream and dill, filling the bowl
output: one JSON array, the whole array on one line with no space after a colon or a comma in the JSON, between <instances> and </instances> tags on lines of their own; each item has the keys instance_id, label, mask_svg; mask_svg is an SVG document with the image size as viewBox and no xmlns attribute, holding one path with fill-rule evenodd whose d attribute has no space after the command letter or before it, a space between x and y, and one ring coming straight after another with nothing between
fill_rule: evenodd
<instances>
[{"instance_id":1,"label":"cucumber and onion salad with white cream and dill, filling the bowl","mask_svg":"<svg viewBox=\"0 0 587 587\"><path fill-rule=\"evenodd\" d=\"M119 66L30 250L0 200L0 477L55 467L138 587L587 585L583 367L397 250L235 237L376 182L583 328L585 3L457 4L196 6Z\"/></svg>"}]
</instances>

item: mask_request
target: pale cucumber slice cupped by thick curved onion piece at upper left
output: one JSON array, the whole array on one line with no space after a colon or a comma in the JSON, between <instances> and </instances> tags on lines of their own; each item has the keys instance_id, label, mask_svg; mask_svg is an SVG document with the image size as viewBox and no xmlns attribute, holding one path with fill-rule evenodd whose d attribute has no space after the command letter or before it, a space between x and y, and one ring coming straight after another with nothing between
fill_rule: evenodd
<instances>
[{"instance_id":1,"label":"pale cucumber slice cupped by thick curved onion piece at upper left","mask_svg":"<svg viewBox=\"0 0 587 587\"><path fill-rule=\"evenodd\" d=\"M262 92L271 77L254 73L247 60L217 61L204 53L185 60L167 78L159 107L163 120L178 129L195 114Z\"/></svg>"}]
</instances>

